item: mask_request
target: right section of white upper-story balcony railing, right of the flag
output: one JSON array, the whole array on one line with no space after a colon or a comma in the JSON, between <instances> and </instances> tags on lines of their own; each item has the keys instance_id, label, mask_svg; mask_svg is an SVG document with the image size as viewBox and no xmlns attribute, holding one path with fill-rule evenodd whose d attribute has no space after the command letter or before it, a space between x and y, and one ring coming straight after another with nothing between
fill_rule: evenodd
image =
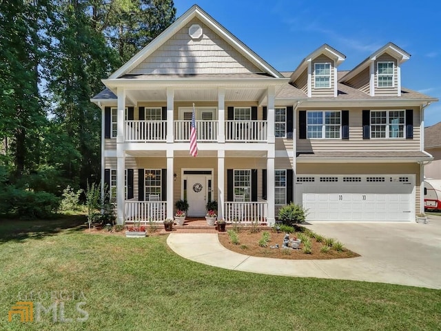
<instances>
[{"instance_id":1,"label":"right section of white upper-story balcony railing, right of the flag","mask_svg":"<svg viewBox=\"0 0 441 331\"><path fill-rule=\"evenodd\" d=\"M267 141L267 121L225 121L225 141Z\"/></svg>"}]
</instances>

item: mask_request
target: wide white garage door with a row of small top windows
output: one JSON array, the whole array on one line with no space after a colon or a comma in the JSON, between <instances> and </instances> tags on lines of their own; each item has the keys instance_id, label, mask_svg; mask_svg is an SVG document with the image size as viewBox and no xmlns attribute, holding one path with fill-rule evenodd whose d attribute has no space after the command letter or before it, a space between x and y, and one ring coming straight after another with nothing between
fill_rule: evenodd
<instances>
[{"instance_id":1,"label":"wide white garage door with a row of small top windows","mask_svg":"<svg viewBox=\"0 0 441 331\"><path fill-rule=\"evenodd\" d=\"M415 175L298 175L307 221L414 221Z\"/></svg>"}]
</instances>

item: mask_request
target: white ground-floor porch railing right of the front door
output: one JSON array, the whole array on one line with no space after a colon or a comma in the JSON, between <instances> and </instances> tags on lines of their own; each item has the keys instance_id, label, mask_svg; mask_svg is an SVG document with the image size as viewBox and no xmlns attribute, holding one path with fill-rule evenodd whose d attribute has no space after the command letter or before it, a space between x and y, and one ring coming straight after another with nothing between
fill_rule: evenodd
<instances>
[{"instance_id":1,"label":"white ground-floor porch railing right of the front door","mask_svg":"<svg viewBox=\"0 0 441 331\"><path fill-rule=\"evenodd\" d=\"M239 222L242 224L266 223L268 215L267 201L252 202L225 202L225 221L227 223Z\"/></svg>"}]
</instances>

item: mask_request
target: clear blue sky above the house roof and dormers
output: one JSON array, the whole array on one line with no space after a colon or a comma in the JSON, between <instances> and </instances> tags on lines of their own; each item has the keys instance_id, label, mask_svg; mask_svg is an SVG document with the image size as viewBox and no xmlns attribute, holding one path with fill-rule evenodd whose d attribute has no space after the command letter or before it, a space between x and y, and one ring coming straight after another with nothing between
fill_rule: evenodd
<instances>
[{"instance_id":1,"label":"clear blue sky above the house roof and dormers","mask_svg":"<svg viewBox=\"0 0 441 331\"><path fill-rule=\"evenodd\" d=\"M391 41L411 54L402 86L441 99L441 1L174 0L176 16L195 3L279 71L323 43L350 70ZM441 102L425 110L425 126L439 121Z\"/></svg>"}]
</instances>

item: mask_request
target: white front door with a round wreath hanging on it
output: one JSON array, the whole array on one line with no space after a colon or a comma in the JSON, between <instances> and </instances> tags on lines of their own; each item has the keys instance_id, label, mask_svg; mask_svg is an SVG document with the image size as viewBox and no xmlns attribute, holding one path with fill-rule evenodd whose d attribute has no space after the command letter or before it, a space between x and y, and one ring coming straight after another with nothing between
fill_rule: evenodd
<instances>
[{"instance_id":1,"label":"white front door with a round wreath hanging on it","mask_svg":"<svg viewBox=\"0 0 441 331\"><path fill-rule=\"evenodd\" d=\"M189 217L204 217L207 204L207 176L187 177L187 202Z\"/></svg>"}]
</instances>

